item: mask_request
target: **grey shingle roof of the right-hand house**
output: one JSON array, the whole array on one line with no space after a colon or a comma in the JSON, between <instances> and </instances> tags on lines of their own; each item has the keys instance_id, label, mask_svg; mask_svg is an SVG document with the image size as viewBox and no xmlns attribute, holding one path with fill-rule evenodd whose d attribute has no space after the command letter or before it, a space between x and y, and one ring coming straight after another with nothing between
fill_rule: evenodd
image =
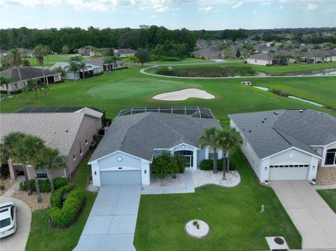
<instances>
[{"instance_id":1,"label":"grey shingle roof of the right-hand house","mask_svg":"<svg viewBox=\"0 0 336 251\"><path fill-rule=\"evenodd\" d=\"M317 155L311 145L336 142L336 118L316 110L269 110L229 117L260 159L291 147Z\"/></svg>"}]
</instances>

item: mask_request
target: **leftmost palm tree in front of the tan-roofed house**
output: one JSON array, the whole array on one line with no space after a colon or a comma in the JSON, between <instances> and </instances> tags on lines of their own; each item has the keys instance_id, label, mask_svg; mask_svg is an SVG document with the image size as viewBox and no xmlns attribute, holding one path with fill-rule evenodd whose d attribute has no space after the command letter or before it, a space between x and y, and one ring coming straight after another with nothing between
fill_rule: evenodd
<instances>
[{"instance_id":1,"label":"leftmost palm tree in front of the tan-roofed house","mask_svg":"<svg viewBox=\"0 0 336 251\"><path fill-rule=\"evenodd\" d=\"M28 195L31 194L31 187L28 178L26 161L22 158L21 152L18 151L20 144L22 143L23 138L25 138L25 134L20 132L13 132L7 134L3 138L3 145L1 147L1 162L5 162L6 160L13 160L15 162L21 162L23 166L23 173L25 173L25 183L27 186Z\"/></svg>"}]
</instances>

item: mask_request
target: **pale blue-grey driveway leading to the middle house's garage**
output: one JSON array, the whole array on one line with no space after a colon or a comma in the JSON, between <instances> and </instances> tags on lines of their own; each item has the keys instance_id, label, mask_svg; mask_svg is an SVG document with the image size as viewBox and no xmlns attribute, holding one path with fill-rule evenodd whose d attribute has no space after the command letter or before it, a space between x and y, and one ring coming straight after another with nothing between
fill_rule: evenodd
<instances>
[{"instance_id":1,"label":"pale blue-grey driveway leading to the middle house's garage","mask_svg":"<svg viewBox=\"0 0 336 251\"><path fill-rule=\"evenodd\" d=\"M74 250L135 251L141 185L104 185Z\"/></svg>"}]
</instances>

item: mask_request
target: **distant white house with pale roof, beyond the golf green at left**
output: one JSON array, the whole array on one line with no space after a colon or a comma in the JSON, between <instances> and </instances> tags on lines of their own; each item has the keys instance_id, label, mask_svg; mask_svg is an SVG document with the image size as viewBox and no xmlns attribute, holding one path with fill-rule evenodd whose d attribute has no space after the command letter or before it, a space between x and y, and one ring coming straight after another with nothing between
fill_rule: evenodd
<instances>
[{"instance_id":1,"label":"distant white house with pale roof, beyond the golf green at left","mask_svg":"<svg viewBox=\"0 0 336 251\"><path fill-rule=\"evenodd\" d=\"M69 71L69 63L68 62L57 62L53 66L51 66L51 70L55 70L56 68L61 67L63 73L63 78L65 79L82 79L83 74L85 78L93 77L97 74L102 73L103 68L102 66L97 66L94 64L86 64L85 70L83 72L83 69L80 69L80 71L76 72L76 74L73 74L73 71Z\"/></svg>"}]
</instances>

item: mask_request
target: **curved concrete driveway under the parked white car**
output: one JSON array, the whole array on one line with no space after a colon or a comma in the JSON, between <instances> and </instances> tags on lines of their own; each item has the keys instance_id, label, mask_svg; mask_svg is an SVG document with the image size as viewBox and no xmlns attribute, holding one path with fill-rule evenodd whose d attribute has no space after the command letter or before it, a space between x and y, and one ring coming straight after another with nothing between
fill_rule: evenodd
<instances>
[{"instance_id":1,"label":"curved concrete driveway under the parked white car","mask_svg":"<svg viewBox=\"0 0 336 251\"><path fill-rule=\"evenodd\" d=\"M29 206L20 201L20 199L15 199L8 196L0 196L0 203L6 201L14 201L18 208L18 230L15 234L7 236L0 239L0 250L1 251L22 251L25 250L26 243L30 231L31 223L31 210Z\"/></svg>"}]
</instances>

